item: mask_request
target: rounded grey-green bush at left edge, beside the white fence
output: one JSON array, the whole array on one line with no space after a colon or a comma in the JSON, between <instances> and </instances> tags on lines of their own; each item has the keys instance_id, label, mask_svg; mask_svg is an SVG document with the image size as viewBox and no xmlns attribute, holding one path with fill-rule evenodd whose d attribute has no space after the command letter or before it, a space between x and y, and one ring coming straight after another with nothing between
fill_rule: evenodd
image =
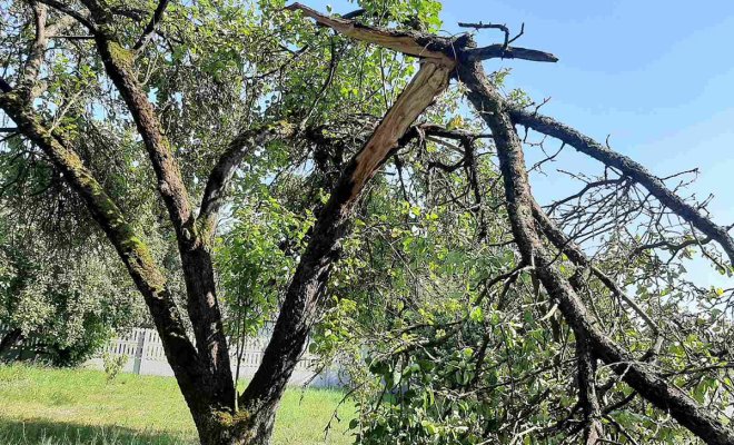
<instances>
[{"instance_id":1,"label":"rounded grey-green bush at left edge, beside the white fence","mask_svg":"<svg viewBox=\"0 0 734 445\"><path fill-rule=\"evenodd\" d=\"M116 330L139 320L141 307L119 265L103 250L61 253L32 226L0 229L0 357L72 366ZM50 257L50 258L49 258ZM11 352L14 347L19 353Z\"/></svg>"}]
</instances>

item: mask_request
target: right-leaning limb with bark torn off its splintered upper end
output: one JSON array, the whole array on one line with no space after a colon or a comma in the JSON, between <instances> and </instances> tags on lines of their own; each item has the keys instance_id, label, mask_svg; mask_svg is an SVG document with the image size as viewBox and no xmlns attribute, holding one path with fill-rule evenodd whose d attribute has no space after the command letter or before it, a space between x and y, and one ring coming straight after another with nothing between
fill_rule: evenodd
<instances>
[{"instance_id":1,"label":"right-leaning limb with bark torn off its splintered upper end","mask_svg":"<svg viewBox=\"0 0 734 445\"><path fill-rule=\"evenodd\" d=\"M425 60L365 147L355 155L331 191L314 226L311 238L286 293L262 364L252 377L241 405L267 413L277 403L298 362L339 243L348 233L355 204L369 179L398 147L410 125L448 86L453 69Z\"/></svg>"}]
</instances>

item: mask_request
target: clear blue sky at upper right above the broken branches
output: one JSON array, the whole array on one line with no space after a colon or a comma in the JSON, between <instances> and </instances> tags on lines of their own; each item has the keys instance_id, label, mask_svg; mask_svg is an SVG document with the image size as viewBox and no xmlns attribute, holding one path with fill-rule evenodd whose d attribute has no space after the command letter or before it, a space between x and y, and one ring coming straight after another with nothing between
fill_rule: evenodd
<instances>
[{"instance_id":1,"label":"clear blue sky at upper right above the broken branches","mask_svg":"<svg viewBox=\"0 0 734 445\"><path fill-rule=\"evenodd\" d=\"M325 0L301 0L323 8ZM346 12L354 4L330 2ZM714 219L734 222L734 1L444 0L444 28L459 21L506 23L525 34L516 46L542 49L557 63L485 62L513 69L508 85L552 100L545 113L603 141L658 176L694 167L690 189L714 194ZM502 36L485 30L480 43ZM586 162L559 158L574 169ZM558 162L556 166L558 166ZM589 162L588 165L594 165ZM533 178L540 200L576 190L557 176ZM703 273L703 271L702 271Z\"/></svg>"}]
</instances>

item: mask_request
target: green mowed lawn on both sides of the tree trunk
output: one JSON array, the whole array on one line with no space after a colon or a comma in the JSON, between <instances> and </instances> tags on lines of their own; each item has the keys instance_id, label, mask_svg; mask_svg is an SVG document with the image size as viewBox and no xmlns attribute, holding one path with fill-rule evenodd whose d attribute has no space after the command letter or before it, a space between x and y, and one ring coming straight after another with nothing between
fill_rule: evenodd
<instances>
[{"instance_id":1,"label":"green mowed lawn on both sides of the tree trunk","mask_svg":"<svg viewBox=\"0 0 734 445\"><path fill-rule=\"evenodd\" d=\"M343 393L290 388L278 412L277 445L341 445L354 405L340 406ZM338 417L324 428L338 406ZM2 445L190 445L196 429L171 377L0 366Z\"/></svg>"}]
</instances>

